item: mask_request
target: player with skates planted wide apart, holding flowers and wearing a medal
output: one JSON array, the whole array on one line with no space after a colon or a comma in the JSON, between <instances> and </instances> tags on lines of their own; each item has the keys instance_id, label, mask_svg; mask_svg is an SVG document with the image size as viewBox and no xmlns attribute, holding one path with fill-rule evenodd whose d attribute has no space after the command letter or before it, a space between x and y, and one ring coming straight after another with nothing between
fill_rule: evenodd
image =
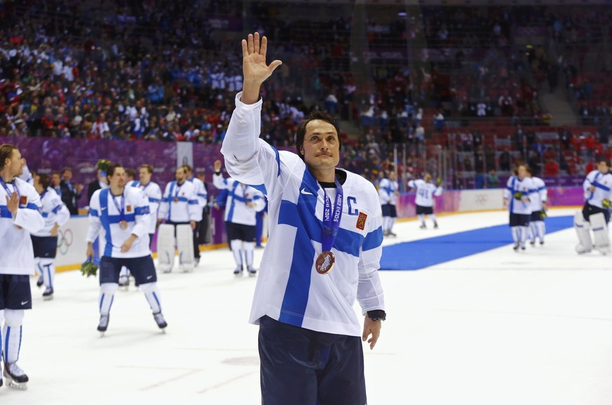
<instances>
[{"instance_id":1,"label":"player with skates planted wide apart, holding flowers and wearing a medal","mask_svg":"<svg viewBox=\"0 0 612 405\"><path fill-rule=\"evenodd\" d=\"M109 165L107 177L109 188L97 190L91 197L86 238L89 258L93 258L93 241L102 231L106 242L100 259L100 324L97 330L104 333L109 326L109 313L122 266L129 268L140 284L157 326L163 329L168 324L161 313L157 275L149 249L149 199L142 190L125 187L125 170L121 165Z\"/></svg>"}]
</instances>

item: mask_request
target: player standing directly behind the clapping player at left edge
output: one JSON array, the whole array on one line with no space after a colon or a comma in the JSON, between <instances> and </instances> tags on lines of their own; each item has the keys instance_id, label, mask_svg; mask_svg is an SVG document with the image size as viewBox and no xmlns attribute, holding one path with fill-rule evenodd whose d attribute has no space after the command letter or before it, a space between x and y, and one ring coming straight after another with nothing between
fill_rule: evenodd
<instances>
[{"instance_id":1,"label":"player standing directly behind the clapping player at left edge","mask_svg":"<svg viewBox=\"0 0 612 405\"><path fill-rule=\"evenodd\" d=\"M34 188L41 195L43 218L45 226L38 232L32 233L34 247L34 261L36 270L45 285L43 299L53 299L53 281L55 279L55 265L53 259L57 252L57 230L70 219L70 212L55 190L50 187L51 179L46 174L37 174L34 177ZM38 284L38 282L36 282Z\"/></svg>"}]
</instances>

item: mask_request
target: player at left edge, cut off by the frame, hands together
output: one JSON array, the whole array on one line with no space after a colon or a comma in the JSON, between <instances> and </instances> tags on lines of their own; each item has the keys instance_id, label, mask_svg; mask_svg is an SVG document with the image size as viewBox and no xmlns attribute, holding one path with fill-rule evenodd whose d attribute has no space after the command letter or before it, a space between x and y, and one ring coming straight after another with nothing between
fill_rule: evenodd
<instances>
[{"instance_id":1,"label":"player at left edge, cut off by the frame, hands together","mask_svg":"<svg viewBox=\"0 0 612 405\"><path fill-rule=\"evenodd\" d=\"M25 389L28 377L17 361L24 313L32 309L29 275L34 274L34 250L30 234L40 231L45 221L39 193L17 177L22 167L17 146L0 145L0 310L4 310L0 352L8 385Z\"/></svg>"}]
</instances>

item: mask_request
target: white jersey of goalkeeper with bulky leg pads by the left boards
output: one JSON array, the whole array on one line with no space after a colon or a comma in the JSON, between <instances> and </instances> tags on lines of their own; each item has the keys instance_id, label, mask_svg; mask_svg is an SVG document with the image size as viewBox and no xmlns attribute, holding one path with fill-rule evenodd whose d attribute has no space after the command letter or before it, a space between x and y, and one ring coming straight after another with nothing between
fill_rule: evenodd
<instances>
[{"instance_id":1,"label":"white jersey of goalkeeper with bulky leg pads by the left boards","mask_svg":"<svg viewBox=\"0 0 612 405\"><path fill-rule=\"evenodd\" d=\"M178 184L176 180L166 184L158 212L160 219L172 222L202 221L196 187L190 181Z\"/></svg>"}]
</instances>

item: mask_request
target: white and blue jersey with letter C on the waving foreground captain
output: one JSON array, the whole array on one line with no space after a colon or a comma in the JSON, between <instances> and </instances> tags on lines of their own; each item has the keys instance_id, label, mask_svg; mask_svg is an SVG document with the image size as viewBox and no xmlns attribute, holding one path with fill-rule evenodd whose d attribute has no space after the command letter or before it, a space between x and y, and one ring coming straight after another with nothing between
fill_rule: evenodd
<instances>
[{"instance_id":1,"label":"white and blue jersey with letter C on the waving foreground captain","mask_svg":"<svg viewBox=\"0 0 612 405\"><path fill-rule=\"evenodd\" d=\"M353 310L384 309L378 269L382 253L381 205L376 188L351 172L343 184L340 228L332 247L336 265L326 275L315 270L322 252L324 191L295 153L277 151L259 139L261 103L236 96L222 146L234 179L266 194L269 238L255 287L250 322L264 315L297 327L361 336Z\"/></svg>"}]
</instances>

